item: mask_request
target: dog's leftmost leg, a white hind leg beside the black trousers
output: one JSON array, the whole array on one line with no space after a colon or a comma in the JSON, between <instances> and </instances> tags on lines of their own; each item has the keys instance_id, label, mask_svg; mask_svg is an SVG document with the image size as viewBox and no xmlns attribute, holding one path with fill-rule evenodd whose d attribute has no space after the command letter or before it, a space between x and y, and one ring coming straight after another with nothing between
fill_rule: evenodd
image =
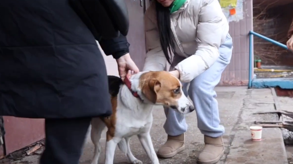
<instances>
[{"instance_id":1,"label":"dog's leftmost leg, a white hind leg beside the black trousers","mask_svg":"<svg viewBox=\"0 0 293 164\"><path fill-rule=\"evenodd\" d=\"M105 127L106 125L100 118L92 118L91 139L92 143L95 145L95 152L91 164L98 164L99 155L101 152L100 139Z\"/></svg>"}]
</instances>

